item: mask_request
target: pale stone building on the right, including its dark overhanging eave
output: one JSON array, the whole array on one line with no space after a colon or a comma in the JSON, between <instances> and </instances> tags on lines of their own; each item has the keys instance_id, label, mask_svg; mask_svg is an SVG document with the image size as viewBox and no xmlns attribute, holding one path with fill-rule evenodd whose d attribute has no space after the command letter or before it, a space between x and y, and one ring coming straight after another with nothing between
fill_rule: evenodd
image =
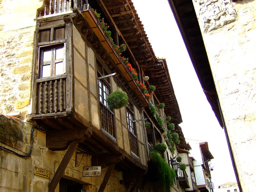
<instances>
[{"instance_id":1,"label":"pale stone building on the right, including its dark overhanging eave","mask_svg":"<svg viewBox=\"0 0 256 192\"><path fill-rule=\"evenodd\" d=\"M191 0L189 26L176 19L197 76L220 125L225 129L238 185L253 191L255 139L255 1ZM198 25L199 24L199 25ZM195 43L197 40L197 43Z\"/></svg>"}]
</instances>

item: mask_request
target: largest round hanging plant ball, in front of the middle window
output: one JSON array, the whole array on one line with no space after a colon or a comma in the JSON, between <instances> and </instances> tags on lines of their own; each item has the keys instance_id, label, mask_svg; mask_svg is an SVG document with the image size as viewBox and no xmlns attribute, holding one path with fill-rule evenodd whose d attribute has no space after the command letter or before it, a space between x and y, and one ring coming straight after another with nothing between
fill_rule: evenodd
<instances>
[{"instance_id":1,"label":"largest round hanging plant ball, in front of the middle window","mask_svg":"<svg viewBox=\"0 0 256 192\"><path fill-rule=\"evenodd\" d=\"M116 90L108 95L107 102L109 108L119 109L128 104L128 96L126 92Z\"/></svg>"}]
</instances>

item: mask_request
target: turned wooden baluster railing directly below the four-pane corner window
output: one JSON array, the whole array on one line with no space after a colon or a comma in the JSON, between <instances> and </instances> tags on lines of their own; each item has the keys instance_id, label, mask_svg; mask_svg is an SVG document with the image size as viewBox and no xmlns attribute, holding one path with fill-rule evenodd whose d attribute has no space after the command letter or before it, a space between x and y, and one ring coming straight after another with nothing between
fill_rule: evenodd
<instances>
[{"instance_id":1,"label":"turned wooden baluster railing directly below the four-pane corner window","mask_svg":"<svg viewBox=\"0 0 256 192\"><path fill-rule=\"evenodd\" d=\"M37 80L37 114L63 112L66 109L66 77Z\"/></svg>"}]
</instances>

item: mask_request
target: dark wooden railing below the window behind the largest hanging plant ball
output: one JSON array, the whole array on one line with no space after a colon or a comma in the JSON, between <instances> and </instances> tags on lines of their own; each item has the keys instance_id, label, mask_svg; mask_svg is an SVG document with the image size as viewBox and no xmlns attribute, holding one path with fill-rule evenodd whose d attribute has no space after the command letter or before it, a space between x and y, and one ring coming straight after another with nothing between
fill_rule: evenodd
<instances>
[{"instance_id":1,"label":"dark wooden railing below the window behind the largest hanging plant ball","mask_svg":"<svg viewBox=\"0 0 256 192\"><path fill-rule=\"evenodd\" d=\"M104 129L108 134L115 138L114 133L114 113L110 111L105 105L100 102L100 124L101 128Z\"/></svg>"}]
</instances>

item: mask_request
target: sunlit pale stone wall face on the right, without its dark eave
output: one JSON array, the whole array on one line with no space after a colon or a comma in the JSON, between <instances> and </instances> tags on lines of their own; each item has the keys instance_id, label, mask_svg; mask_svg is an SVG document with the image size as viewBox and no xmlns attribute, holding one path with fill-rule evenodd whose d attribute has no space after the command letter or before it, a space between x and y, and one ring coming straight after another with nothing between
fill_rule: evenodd
<instances>
[{"instance_id":1,"label":"sunlit pale stone wall face on the right, without its dark eave","mask_svg":"<svg viewBox=\"0 0 256 192\"><path fill-rule=\"evenodd\" d=\"M220 2L221 0L217 1ZM226 1L225 1L226 2ZM254 188L256 167L256 1L225 3L208 30L194 2L243 191ZM232 14L231 14L232 13ZM234 13L234 14L233 14ZM230 18L233 19L230 19ZM208 17L209 18L209 17ZM222 22L229 20L229 22ZM210 22L211 23L211 22ZM213 26L213 25L211 25Z\"/></svg>"}]
</instances>

